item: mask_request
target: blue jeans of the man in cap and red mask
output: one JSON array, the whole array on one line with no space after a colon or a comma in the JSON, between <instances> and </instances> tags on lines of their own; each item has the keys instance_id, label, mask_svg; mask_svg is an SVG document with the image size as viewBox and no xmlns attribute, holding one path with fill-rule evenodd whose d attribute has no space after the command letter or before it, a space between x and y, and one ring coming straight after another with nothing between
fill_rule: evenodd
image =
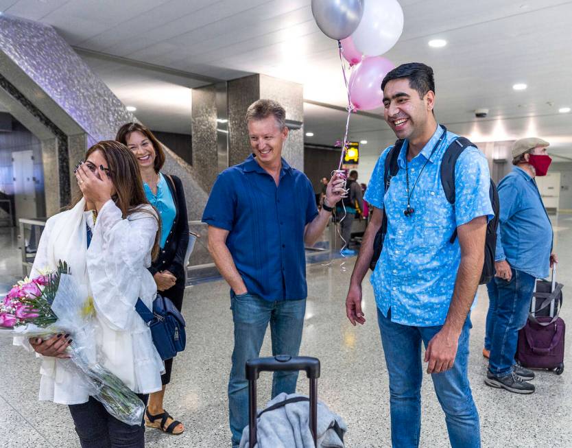
<instances>
[{"instance_id":1,"label":"blue jeans of the man in cap and red mask","mask_svg":"<svg viewBox=\"0 0 572 448\"><path fill-rule=\"evenodd\" d=\"M491 302L495 303L490 323L490 359L488 369L503 377L512 372L519 330L525 326L534 276L512 269L510 281L494 277L487 285Z\"/></svg>"}]
</instances>

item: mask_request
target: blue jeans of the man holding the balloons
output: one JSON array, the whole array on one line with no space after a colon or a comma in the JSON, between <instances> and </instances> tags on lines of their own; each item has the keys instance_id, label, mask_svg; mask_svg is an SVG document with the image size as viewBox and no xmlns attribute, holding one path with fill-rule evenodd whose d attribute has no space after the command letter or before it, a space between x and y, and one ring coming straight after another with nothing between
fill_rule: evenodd
<instances>
[{"instance_id":1,"label":"blue jeans of the man holding the balloons","mask_svg":"<svg viewBox=\"0 0 572 448\"><path fill-rule=\"evenodd\" d=\"M248 425L248 381L246 362L259 357L266 327L270 322L272 355L298 356L306 300L270 302L252 294L233 294L230 299L235 324L233 366L228 381L228 410L233 446L239 445L242 430ZM272 398L281 392L296 392L298 372L274 372Z\"/></svg>"}]
</instances>

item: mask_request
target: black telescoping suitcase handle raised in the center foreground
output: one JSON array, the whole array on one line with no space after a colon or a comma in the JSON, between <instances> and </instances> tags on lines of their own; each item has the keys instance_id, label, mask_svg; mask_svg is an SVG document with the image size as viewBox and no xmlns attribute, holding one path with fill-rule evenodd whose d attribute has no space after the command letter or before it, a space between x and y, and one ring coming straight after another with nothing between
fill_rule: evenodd
<instances>
[{"instance_id":1,"label":"black telescoping suitcase handle raised in the center foreground","mask_svg":"<svg viewBox=\"0 0 572 448\"><path fill-rule=\"evenodd\" d=\"M317 445L318 427L318 378L320 377L320 360L315 357L277 355L249 359L246 362L246 379L248 379L248 438L249 447L257 443L257 379L261 372L283 370L305 370L310 380L310 431Z\"/></svg>"}]
</instances>

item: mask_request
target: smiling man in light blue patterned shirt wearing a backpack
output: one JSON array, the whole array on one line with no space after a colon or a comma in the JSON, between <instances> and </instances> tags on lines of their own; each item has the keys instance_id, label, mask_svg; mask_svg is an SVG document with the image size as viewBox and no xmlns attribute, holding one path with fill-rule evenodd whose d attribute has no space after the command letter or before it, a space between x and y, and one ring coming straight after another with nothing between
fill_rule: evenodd
<instances>
[{"instance_id":1,"label":"smiling man in light blue patterned shirt wearing a backpack","mask_svg":"<svg viewBox=\"0 0 572 448\"><path fill-rule=\"evenodd\" d=\"M361 282L385 213L388 230L371 283L390 377L393 447L419 445L423 343L451 447L477 448L479 415L467 378L468 315L493 213L488 163L477 148L460 154L453 207L441 185L440 168L457 136L435 119L433 70L416 62L403 64L385 76L381 89L385 121L404 142L388 191L383 177L391 147L379 157L368 185L365 199L375 209L355 263L346 313L353 325L365 322Z\"/></svg>"}]
</instances>

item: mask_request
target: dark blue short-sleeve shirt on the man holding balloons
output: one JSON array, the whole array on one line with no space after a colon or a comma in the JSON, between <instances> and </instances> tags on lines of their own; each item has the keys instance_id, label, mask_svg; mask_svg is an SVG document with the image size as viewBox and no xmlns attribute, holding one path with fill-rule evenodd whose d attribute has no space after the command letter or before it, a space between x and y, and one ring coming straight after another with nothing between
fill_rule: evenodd
<instances>
[{"instance_id":1,"label":"dark blue short-sleeve shirt on the man holding balloons","mask_svg":"<svg viewBox=\"0 0 572 448\"><path fill-rule=\"evenodd\" d=\"M248 156L219 174L202 222L229 231L226 245L250 294L306 298L305 226L318 215L306 175L282 160L278 187Z\"/></svg>"}]
</instances>

